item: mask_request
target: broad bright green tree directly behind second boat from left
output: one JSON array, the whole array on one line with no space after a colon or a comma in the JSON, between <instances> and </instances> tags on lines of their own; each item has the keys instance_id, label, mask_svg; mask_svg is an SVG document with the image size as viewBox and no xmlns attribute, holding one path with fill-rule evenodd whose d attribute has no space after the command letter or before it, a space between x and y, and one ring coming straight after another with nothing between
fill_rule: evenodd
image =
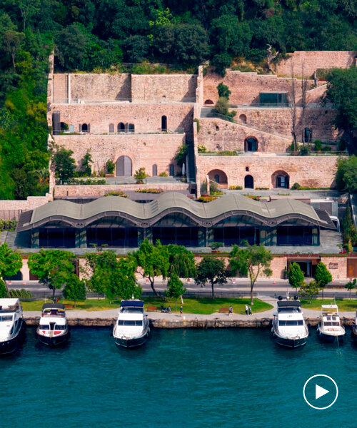
<instances>
[{"instance_id":1,"label":"broad bright green tree directly behind second boat from left","mask_svg":"<svg viewBox=\"0 0 357 428\"><path fill-rule=\"evenodd\" d=\"M74 254L64 250L41 250L29 256L30 272L39 277L39 282L52 290L61 290L74 274Z\"/></svg>"}]
</instances>

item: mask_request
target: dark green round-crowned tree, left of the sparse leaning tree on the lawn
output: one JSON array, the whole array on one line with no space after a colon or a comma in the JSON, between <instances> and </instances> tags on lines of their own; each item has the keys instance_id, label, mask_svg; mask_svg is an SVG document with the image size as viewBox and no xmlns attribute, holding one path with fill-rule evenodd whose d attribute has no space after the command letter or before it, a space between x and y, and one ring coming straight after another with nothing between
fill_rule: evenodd
<instances>
[{"instance_id":1,"label":"dark green round-crowned tree, left of the sparse leaning tree on the lawn","mask_svg":"<svg viewBox=\"0 0 357 428\"><path fill-rule=\"evenodd\" d=\"M229 273L223 259L203 257L197 267L195 282L201 287L204 287L206 282L209 282L212 288L212 299L214 299L214 285L226 284L228 277Z\"/></svg>"}]
</instances>

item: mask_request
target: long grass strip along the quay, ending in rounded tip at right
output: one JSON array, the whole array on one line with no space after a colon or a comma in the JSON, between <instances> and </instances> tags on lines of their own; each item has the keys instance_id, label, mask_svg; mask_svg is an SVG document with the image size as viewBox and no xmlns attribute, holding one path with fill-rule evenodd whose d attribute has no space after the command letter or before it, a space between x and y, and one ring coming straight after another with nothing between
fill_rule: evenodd
<instances>
[{"instance_id":1,"label":"long grass strip along the quay, ending in rounded tip at right","mask_svg":"<svg viewBox=\"0 0 357 428\"><path fill-rule=\"evenodd\" d=\"M171 306L173 312L175 312L175 300L169 299L167 302L163 302L160 299L154 297L144 299L145 308L148 306L160 307L163 303L165 307ZM49 301L48 301L49 302ZM61 303L73 304L71 300L61 300ZM111 304L108 299L87 299L84 302L76 302L76 309L82 310L106 310L114 309L120 306L120 300L114 300ZM203 314L208 315L213 312L218 312L221 307L233 306L233 312L238 314L245 313L245 306L250 305L250 299L191 299L187 298L183 300L183 313L191 314ZM34 302L22 302L24 310L41 310L42 305L44 304L43 300L36 300ZM252 306L252 311L254 312L263 312L265 310L271 309L271 305L261 300L254 299L254 305ZM70 310L70 309L69 309ZM180 310L180 300L177 302L177 311Z\"/></svg>"}]
</instances>

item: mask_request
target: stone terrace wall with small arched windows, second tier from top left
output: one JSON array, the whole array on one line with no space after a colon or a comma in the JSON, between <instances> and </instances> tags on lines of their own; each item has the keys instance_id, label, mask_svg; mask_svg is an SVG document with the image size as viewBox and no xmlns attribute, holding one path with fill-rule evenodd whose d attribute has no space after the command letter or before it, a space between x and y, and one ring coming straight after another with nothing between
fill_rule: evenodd
<instances>
[{"instance_id":1,"label":"stone terrace wall with small arched windows, second tier from top left","mask_svg":"<svg viewBox=\"0 0 357 428\"><path fill-rule=\"evenodd\" d=\"M109 133L109 124L114 124L114 131L119 122L133 123L135 132L154 133L161 131L161 116L167 117L167 127L175 131L183 128L192 134L193 103L167 104L52 104L48 113L49 125L53 111L60 111L61 122L74 125L79 131L79 124L89 123L91 133Z\"/></svg>"}]
</instances>

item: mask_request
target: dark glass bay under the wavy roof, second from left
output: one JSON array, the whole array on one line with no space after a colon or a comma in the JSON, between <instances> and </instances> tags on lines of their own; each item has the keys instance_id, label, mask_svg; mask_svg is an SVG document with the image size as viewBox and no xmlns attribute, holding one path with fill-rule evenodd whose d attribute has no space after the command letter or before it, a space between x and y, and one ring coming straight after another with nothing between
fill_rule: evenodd
<instances>
[{"instance_id":1,"label":"dark glass bay under the wavy roof, second from left","mask_svg":"<svg viewBox=\"0 0 357 428\"><path fill-rule=\"evenodd\" d=\"M86 243L87 247L95 244L136 248L138 246L138 228L88 228Z\"/></svg>"}]
</instances>

